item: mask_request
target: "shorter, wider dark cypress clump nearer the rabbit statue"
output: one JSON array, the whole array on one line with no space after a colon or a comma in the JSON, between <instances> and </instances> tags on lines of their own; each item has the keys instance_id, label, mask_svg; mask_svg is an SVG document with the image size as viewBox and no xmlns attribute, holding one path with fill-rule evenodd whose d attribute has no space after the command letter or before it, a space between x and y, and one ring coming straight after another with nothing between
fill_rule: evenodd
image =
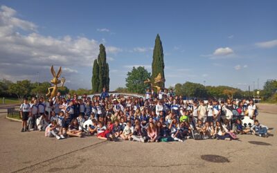
<instances>
[{"instance_id":1,"label":"shorter, wider dark cypress clump nearer the rabbit statue","mask_svg":"<svg viewBox=\"0 0 277 173\"><path fill-rule=\"evenodd\" d=\"M109 91L109 64L107 64L105 46L100 44L100 53L93 63L92 91L101 92L105 87Z\"/></svg>"}]
</instances>

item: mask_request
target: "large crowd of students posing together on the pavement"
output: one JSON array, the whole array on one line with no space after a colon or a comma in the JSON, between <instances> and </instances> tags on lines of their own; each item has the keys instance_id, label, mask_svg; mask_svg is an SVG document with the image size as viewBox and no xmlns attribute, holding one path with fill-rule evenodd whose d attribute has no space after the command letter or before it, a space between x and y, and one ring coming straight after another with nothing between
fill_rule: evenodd
<instances>
[{"instance_id":1,"label":"large crowd of students posing together on the pavement","mask_svg":"<svg viewBox=\"0 0 277 173\"><path fill-rule=\"evenodd\" d=\"M238 134L267 136L267 127L256 116L253 100L183 100L173 91L148 89L145 98L101 95L92 98L74 94L55 98L27 99L20 106L24 131L45 131L46 137L97 136L102 140L183 142L188 138L233 140ZM251 127L242 118L255 120Z\"/></svg>"}]
</instances>

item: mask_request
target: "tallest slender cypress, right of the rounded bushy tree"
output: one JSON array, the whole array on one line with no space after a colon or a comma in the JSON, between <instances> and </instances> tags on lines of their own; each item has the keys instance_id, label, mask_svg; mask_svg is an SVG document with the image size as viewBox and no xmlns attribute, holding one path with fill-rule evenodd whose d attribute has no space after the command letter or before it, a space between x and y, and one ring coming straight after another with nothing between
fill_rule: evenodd
<instances>
[{"instance_id":1,"label":"tallest slender cypress, right of the rounded bushy tree","mask_svg":"<svg viewBox=\"0 0 277 173\"><path fill-rule=\"evenodd\" d=\"M161 78L165 78L164 76L164 62L163 62L163 45L161 44L161 39L159 34L155 40L155 46L153 51L153 61L152 61L152 82L154 82L154 78L161 73ZM165 82L160 82L160 87L164 88Z\"/></svg>"}]
</instances>

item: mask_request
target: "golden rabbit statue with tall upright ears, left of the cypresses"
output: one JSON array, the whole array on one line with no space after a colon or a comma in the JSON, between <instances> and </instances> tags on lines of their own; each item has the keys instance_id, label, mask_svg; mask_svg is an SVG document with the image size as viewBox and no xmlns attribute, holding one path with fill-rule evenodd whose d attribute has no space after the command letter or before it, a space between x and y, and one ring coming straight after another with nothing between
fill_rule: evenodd
<instances>
[{"instance_id":1,"label":"golden rabbit statue with tall upright ears, left of the cypresses","mask_svg":"<svg viewBox=\"0 0 277 173\"><path fill-rule=\"evenodd\" d=\"M46 93L46 96L51 96L51 98L55 97L57 95L57 89L59 87L64 86L64 82L65 82L65 78L62 78L62 80L59 80L58 78L60 78L60 75L62 74L62 66L60 66L59 71L57 71L57 75L55 73L54 67L53 65L51 66L51 73L53 75L53 80L51 80L51 83L54 84L54 86L51 86L50 88L48 88L48 93ZM60 84L62 82L62 86L57 86L57 84ZM51 89L52 92L50 91Z\"/></svg>"}]
</instances>

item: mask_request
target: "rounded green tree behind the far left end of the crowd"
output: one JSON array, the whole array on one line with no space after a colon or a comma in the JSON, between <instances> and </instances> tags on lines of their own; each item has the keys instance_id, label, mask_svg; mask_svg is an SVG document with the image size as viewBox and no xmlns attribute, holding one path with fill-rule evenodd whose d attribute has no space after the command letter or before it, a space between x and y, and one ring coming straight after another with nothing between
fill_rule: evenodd
<instances>
[{"instance_id":1,"label":"rounded green tree behind the far left end of the crowd","mask_svg":"<svg viewBox=\"0 0 277 173\"><path fill-rule=\"evenodd\" d=\"M30 80L17 81L16 83L10 84L8 88L8 92L17 95L20 102L23 101L24 97L30 95L31 90Z\"/></svg>"}]
</instances>

